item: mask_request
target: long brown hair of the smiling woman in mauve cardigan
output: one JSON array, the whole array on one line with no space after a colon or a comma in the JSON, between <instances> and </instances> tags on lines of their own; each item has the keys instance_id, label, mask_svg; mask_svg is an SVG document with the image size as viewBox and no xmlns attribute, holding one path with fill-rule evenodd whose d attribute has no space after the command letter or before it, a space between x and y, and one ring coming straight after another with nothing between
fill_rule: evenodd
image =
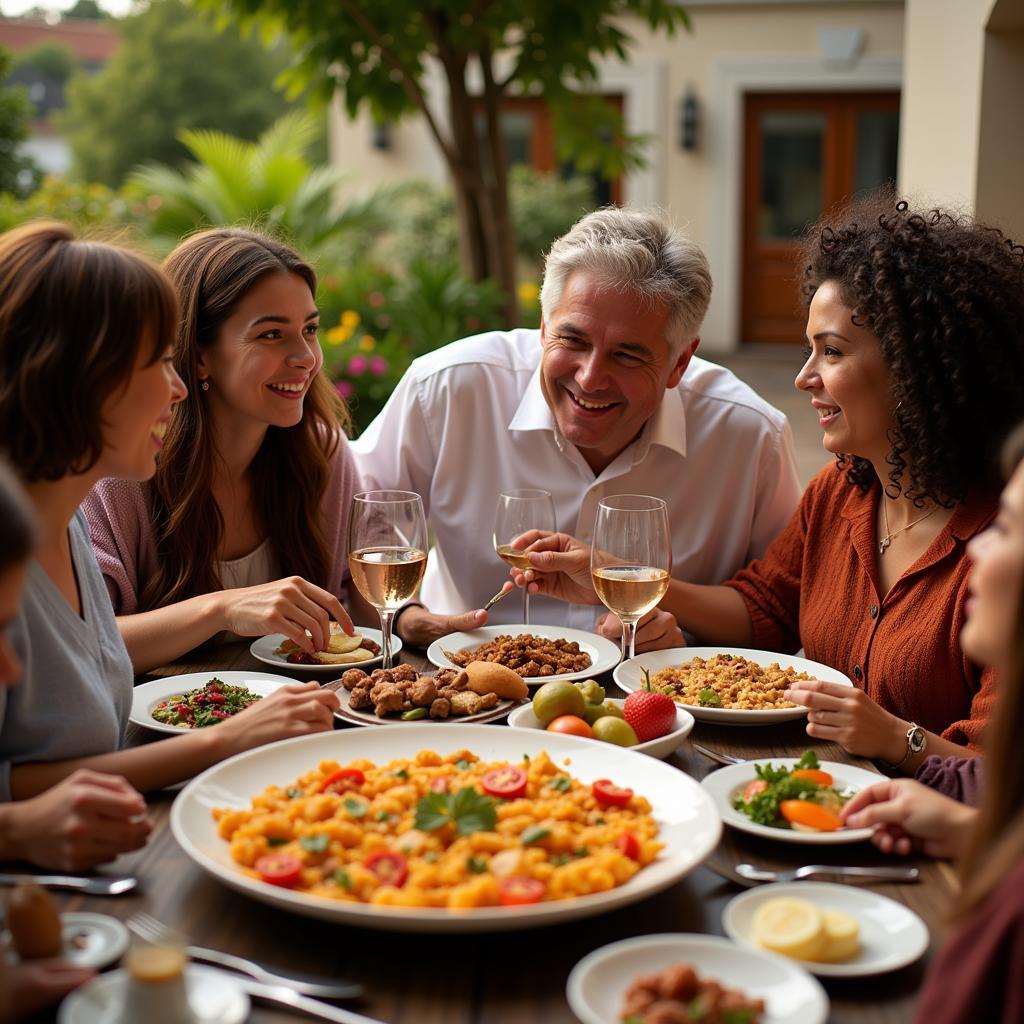
<instances>
[{"instance_id":1,"label":"long brown hair of the smiling woman in mauve cardigan","mask_svg":"<svg viewBox=\"0 0 1024 1024\"><path fill-rule=\"evenodd\" d=\"M164 262L178 291L181 323L174 365L188 397L174 410L151 487L157 569L142 590L143 610L221 589L215 568L224 520L213 497L216 450L199 379L204 349L239 302L264 278L294 273L316 294L316 274L274 239L241 228L214 228L186 239ZM327 586L330 553L321 505L331 459L348 412L322 372L305 397L301 422L268 427L250 467L257 528L270 542L283 575Z\"/></svg>"}]
</instances>

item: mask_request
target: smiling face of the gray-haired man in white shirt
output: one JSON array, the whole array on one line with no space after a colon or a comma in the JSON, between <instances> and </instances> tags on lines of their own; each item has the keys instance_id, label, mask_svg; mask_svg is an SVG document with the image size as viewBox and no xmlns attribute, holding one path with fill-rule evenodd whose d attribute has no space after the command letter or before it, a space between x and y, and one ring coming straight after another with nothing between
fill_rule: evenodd
<instances>
[{"instance_id":1,"label":"smiling face of the gray-haired man in white shirt","mask_svg":"<svg viewBox=\"0 0 1024 1024\"><path fill-rule=\"evenodd\" d=\"M541 386L558 429L595 473L610 465L675 387L697 346L674 354L669 310L577 270L541 321Z\"/></svg>"}]
</instances>

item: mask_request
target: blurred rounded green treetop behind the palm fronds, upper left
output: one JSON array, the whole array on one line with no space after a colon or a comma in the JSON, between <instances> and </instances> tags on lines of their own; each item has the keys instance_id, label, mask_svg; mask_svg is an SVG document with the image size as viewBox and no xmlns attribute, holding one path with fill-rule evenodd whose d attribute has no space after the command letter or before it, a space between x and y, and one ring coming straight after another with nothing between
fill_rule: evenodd
<instances>
[{"instance_id":1,"label":"blurred rounded green treetop behind the palm fronds, upper left","mask_svg":"<svg viewBox=\"0 0 1024 1024\"><path fill-rule=\"evenodd\" d=\"M75 75L60 119L76 172L117 186L144 161L187 157L185 129L216 129L253 139L288 109L273 82L289 55L217 32L182 0L154 0L117 19L118 52L97 74Z\"/></svg>"}]
</instances>

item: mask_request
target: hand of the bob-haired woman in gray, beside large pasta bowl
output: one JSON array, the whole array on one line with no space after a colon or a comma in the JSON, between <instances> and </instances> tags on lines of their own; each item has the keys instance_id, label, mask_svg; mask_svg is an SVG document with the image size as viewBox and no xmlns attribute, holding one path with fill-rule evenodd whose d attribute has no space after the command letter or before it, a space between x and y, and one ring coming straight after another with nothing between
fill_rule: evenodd
<instances>
[{"instance_id":1,"label":"hand of the bob-haired woman in gray, beside large pasta bowl","mask_svg":"<svg viewBox=\"0 0 1024 1024\"><path fill-rule=\"evenodd\" d=\"M328 732L340 707L334 690L322 689L318 683L290 683L220 722L210 733L227 757L278 739Z\"/></svg>"}]
</instances>

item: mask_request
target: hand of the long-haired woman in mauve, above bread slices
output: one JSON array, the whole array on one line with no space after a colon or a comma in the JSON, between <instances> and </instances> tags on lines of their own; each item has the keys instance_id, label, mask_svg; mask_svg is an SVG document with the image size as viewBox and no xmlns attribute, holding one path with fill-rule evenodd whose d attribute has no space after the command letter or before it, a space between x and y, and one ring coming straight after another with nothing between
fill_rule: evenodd
<instances>
[{"instance_id":1,"label":"hand of the long-haired woman in mauve, above bread slices","mask_svg":"<svg viewBox=\"0 0 1024 1024\"><path fill-rule=\"evenodd\" d=\"M284 633L308 654L327 648L331 620L349 636L355 632L341 602L302 577L223 590L216 598L221 629L243 637Z\"/></svg>"}]
</instances>

